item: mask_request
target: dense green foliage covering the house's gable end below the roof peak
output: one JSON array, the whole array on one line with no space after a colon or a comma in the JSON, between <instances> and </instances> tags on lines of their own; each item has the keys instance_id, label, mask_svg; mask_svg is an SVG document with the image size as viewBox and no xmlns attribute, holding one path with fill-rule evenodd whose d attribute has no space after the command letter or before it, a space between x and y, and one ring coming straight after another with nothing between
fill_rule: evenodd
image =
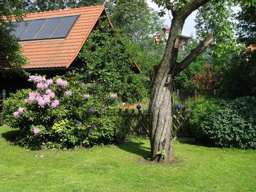
<instances>
[{"instance_id":1,"label":"dense green foliage covering the house's gable end below the roof peak","mask_svg":"<svg viewBox=\"0 0 256 192\"><path fill-rule=\"evenodd\" d=\"M124 102L137 102L147 97L142 74L134 74L131 56L122 44L120 36L102 22L97 31L90 34L77 56L81 79L97 81L102 92L115 92Z\"/></svg>"}]
</instances>

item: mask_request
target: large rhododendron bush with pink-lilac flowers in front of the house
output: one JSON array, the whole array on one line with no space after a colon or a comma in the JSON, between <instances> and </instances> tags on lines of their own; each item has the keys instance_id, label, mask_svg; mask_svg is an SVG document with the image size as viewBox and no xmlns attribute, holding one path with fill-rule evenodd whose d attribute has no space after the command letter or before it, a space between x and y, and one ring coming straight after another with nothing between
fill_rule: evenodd
<instances>
[{"instance_id":1,"label":"large rhododendron bush with pink-lilac flowers in front of the house","mask_svg":"<svg viewBox=\"0 0 256 192\"><path fill-rule=\"evenodd\" d=\"M20 90L4 101L5 123L20 129L17 143L74 148L125 138L124 119L115 112L115 93L102 93L97 83L83 83L75 74L54 79L30 76L28 81L35 90Z\"/></svg>"}]
</instances>

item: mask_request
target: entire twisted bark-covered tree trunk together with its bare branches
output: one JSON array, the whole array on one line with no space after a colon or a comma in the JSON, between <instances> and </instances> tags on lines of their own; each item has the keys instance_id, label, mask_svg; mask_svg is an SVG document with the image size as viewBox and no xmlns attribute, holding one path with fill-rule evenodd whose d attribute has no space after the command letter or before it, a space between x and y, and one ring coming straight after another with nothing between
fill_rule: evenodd
<instances>
[{"instance_id":1,"label":"entire twisted bark-covered tree trunk together with its bare branches","mask_svg":"<svg viewBox=\"0 0 256 192\"><path fill-rule=\"evenodd\" d=\"M177 35L181 34L184 22L188 15L209 0L190 0L179 10L172 10L173 19L170 34L166 43L163 60L154 69L150 93L150 146L152 161L172 162L173 136L172 136L172 89L174 77L214 41L213 36L202 42L182 62L177 63L179 50L174 48ZM159 156L157 152L166 155Z\"/></svg>"}]
</instances>

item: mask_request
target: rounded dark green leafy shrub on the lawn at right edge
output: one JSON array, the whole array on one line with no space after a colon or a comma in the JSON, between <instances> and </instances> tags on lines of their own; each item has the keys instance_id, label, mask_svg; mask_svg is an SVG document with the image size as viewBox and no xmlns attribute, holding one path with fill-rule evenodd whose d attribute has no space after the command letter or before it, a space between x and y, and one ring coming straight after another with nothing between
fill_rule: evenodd
<instances>
[{"instance_id":1,"label":"rounded dark green leafy shrub on the lawn at right edge","mask_svg":"<svg viewBox=\"0 0 256 192\"><path fill-rule=\"evenodd\" d=\"M255 108L255 97L202 104L193 111L189 124L197 131L195 134L216 146L256 148Z\"/></svg>"}]
</instances>

